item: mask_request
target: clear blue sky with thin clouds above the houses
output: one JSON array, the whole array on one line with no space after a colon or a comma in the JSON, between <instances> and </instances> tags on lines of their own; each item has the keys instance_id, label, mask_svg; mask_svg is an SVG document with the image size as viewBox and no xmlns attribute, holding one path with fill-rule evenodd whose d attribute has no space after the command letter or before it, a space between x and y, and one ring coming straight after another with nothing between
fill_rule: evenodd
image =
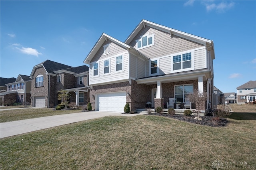
<instances>
[{"instance_id":1,"label":"clear blue sky with thin clouds above the houses","mask_svg":"<svg viewBox=\"0 0 256 170\"><path fill-rule=\"evenodd\" d=\"M47 59L73 67L104 32L124 42L142 19L214 41L214 86L256 80L256 1L0 1L0 76Z\"/></svg>"}]
</instances>

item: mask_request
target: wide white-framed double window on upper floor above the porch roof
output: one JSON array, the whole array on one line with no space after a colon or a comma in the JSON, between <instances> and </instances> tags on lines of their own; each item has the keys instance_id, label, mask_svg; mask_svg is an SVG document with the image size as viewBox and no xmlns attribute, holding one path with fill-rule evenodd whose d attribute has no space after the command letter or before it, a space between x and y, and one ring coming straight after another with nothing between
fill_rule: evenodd
<instances>
[{"instance_id":1,"label":"wide white-framed double window on upper floor above the porch roof","mask_svg":"<svg viewBox=\"0 0 256 170\"><path fill-rule=\"evenodd\" d=\"M191 68L191 53L173 56L173 70Z\"/></svg>"}]
</instances>

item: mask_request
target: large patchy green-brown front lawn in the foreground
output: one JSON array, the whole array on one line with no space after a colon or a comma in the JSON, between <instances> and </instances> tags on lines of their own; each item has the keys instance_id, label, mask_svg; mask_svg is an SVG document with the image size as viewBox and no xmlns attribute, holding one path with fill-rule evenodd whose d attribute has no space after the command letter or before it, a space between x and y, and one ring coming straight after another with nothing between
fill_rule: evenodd
<instances>
[{"instance_id":1,"label":"large patchy green-brown front lawn in the foreground","mask_svg":"<svg viewBox=\"0 0 256 170\"><path fill-rule=\"evenodd\" d=\"M49 128L1 139L0 169L212 169L216 159L256 169L256 121L228 120L216 128L138 115Z\"/></svg>"}]
</instances>

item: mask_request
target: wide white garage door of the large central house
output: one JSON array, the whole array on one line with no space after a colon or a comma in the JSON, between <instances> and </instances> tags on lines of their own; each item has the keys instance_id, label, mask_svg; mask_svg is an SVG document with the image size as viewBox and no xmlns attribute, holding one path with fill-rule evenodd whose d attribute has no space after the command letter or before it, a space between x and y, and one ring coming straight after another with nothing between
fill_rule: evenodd
<instances>
[{"instance_id":1,"label":"wide white garage door of the large central house","mask_svg":"<svg viewBox=\"0 0 256 170\"><path fill-rule=\"evenodd\" d=\"M126 92L100 93L97 102L98 111L124 112Z\"/></svg>"}]
</instances>

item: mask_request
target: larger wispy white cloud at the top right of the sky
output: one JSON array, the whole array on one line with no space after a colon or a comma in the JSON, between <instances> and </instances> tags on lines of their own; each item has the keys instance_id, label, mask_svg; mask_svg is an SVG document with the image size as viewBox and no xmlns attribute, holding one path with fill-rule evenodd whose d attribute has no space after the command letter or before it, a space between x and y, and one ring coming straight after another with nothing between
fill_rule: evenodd
<instances>
[{"instance_id":1,"label":"larger wispy white cloud at the top right of the sky","mask_svg":"<svg viewBox=\"0 0 256 170\"><path fill-rule=\"evenodd\" d=\"M219 13L226 12L227 10L229 10L235 5L234 2L229 2L229 3L220 2L218 4L215 4L215 3L209 3L208 1L207 2L203 1L202 3L206 6L207 11L216 10L216 12L219 12Z\"/></svg>"}]
</instances>

